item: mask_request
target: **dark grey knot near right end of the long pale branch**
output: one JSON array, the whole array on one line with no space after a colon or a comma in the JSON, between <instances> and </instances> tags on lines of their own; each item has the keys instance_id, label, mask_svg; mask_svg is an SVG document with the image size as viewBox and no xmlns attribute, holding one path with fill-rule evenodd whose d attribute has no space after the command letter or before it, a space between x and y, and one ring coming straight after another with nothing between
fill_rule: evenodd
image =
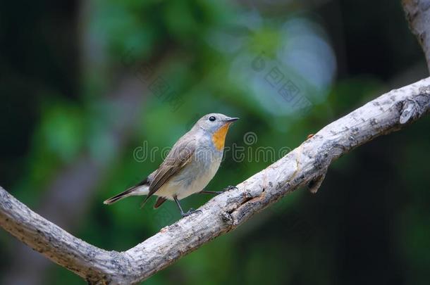
<instances>
[{"instance_id":1,"label":"dark grey knot near right end of the long pale branch","mask_svg":"<svg viewBox=\"0 0 430 285\"><path fill-rule=\"evenodd\" d=\"M410 120L421 117L426 112L430 103L430 86L420 87L417 95L406 99L400 109L400 124L406 124Z\"/></svg>"}]
</instances>

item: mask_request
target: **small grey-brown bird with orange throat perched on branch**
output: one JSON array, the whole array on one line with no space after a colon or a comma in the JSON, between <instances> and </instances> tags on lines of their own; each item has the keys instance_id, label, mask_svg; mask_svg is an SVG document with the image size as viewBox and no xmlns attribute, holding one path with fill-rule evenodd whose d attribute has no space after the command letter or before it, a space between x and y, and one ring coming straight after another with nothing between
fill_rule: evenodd
<instances>
[{"instance_id":1,"label":"small grey-brown bird with orange throat perched on branch","mask_svg":"<svg viewBox=\"0 0 430 285\"><path fill-rule=\"evenodd\" d=\"M184 213L179 200L195 193L221 193L203 189L218 171L228 127L236 120L238 118L223 114L204 115L176 141L157 170L139 184L107 199L104 204L109 205L128 196L147 195L143 205L150 196L155 195L158 198L154 208L159 208L166 200L173 200L183 217L195 213L194 209Z\"/></svg>"}]
</instances>

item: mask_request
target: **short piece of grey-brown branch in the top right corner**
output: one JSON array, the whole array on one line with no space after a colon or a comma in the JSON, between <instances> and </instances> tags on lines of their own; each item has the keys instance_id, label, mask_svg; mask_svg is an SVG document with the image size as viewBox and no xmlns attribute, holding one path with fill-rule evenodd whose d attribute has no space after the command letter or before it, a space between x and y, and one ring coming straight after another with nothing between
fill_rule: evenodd
<instances>
[{"instance_id":1,"label":"short piece of grey-brown branch in the top right corner","mask_svg":"<svg viewBox=\"0 0 430 285\"><path fill-rule=\"evenodd\" d=\"M407 21L426 55L430 71L430 0L402 0Z\"/></svg>"}]
</instances>

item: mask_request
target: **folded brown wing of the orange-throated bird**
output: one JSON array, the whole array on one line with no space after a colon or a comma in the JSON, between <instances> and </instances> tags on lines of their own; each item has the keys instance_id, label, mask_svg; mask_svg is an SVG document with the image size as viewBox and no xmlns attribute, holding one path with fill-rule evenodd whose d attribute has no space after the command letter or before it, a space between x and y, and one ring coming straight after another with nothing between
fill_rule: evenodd
<instances>
[{"instance_id":1,"label":"folded brown wing of the orange-throated bird","mask_svg":"<svg viewBox=\"0 0 430 285\"><path fill-rule=\"evenodd\" d=\"M154 179L149 184L149 194L145 201L160 189L168 179L180 172L185 165L188 165L192 161L194 153L195 139L188 139L185 136L180 138L168 153L164 162L161 163L159 169L156 170Z\"/></svg>"}]
</instances>

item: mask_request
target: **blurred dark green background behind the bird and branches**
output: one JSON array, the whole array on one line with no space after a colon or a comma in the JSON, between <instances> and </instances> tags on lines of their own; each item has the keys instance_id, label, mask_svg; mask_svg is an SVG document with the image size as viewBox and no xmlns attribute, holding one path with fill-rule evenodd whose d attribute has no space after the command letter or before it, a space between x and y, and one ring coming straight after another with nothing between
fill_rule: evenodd
<instances>
[{"instance_id":1,"label":"blurred dark green background behind the bird and branches","mask_svg":"<svg viewBox=\"0 0 430 285\"><path fill-rule=\"evenodd\" d=\"M180 218L171 202L102 204L161 163L142 149L216 112L241 118L226 146L282 153L427 76L400 1L1 1L0 184L124 251ZM357 148L318 194L296 191L145 284L429 284L429 127ZM208 189L270 163L226 152ZM85 284L3 230L0 255L0 284Z\"/></svg>"}]
</instances>

